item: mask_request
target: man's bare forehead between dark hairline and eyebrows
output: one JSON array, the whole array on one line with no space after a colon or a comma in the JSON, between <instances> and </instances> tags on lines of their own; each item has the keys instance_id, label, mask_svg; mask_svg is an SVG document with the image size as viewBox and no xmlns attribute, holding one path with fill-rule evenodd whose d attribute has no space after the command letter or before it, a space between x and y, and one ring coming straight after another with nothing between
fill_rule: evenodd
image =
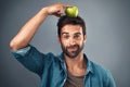
<instances>
[{"instance_id":1,"label":"man's bare forehead between dark hairline and eyebrows","mask_svg":"<svg viewBox=\"0 0 130 87\"><path fill-rule=\"evenodd\" d=\"M80 25L65 25L62 27L62 33L68 33L68 34L75 34L75 33L81 33L82 34L82 27Z\"/></svg>"}]
</instances>

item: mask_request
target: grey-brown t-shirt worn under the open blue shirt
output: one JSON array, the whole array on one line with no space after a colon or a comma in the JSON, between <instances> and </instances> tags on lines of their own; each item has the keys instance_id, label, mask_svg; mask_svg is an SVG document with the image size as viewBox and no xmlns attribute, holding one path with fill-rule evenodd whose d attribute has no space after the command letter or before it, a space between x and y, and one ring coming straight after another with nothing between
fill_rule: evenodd
<instances>
[{"instance_id":1,"label":"grey-brown t-shirt worn under the open blue shirt","mask_svg":"<svg viewBox=\"0 0 130 87\"><path fill-rule=\"evenodd\" d=\"M68 73L67 80L64 87L84 87L83 78L84 78L84 75L74 76L70 73Z\"/></svg>"}]
</instances>

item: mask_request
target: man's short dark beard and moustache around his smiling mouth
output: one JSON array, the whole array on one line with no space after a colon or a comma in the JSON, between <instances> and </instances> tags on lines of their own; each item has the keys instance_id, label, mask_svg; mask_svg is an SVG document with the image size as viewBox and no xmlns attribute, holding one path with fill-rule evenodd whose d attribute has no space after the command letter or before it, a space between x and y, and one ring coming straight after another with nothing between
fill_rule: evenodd
<instances>
[{"instance_id":1,"label":"man's short dark beard and moustache around his smiling mouth","mask_svg":"<svg viewBox=\"0 0 130 87\"><path fill-rule=\"evenodd\" d=\"M61 46L62 46L63 53L65 53L68 58L74 59L82 51L84 44L82 42L81 46L73 45L69 47L65 47L64 45L61 44Z\"/></svg>"}]
</instances>

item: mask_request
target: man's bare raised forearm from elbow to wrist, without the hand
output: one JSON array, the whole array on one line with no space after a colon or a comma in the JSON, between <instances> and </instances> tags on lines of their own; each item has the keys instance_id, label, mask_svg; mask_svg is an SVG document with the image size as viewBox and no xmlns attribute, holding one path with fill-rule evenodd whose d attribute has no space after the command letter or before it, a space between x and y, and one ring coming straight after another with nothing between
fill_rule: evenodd
<instances>
[{"instance_id":1,"label":"man's bare raised forearm from elbow to wrist, without the hand","mask_svg":"<svg viewBox=\"0 0 130 87\"><path fill-rule=\"evenodd\" d=\"M34 35L36 34L38 27L48 16L46 8L40 10L32 18L30 18L18 32L18 34L11 40L10 47L12 50L17 50L26 47Z\"/></svg>"}]
</instances>

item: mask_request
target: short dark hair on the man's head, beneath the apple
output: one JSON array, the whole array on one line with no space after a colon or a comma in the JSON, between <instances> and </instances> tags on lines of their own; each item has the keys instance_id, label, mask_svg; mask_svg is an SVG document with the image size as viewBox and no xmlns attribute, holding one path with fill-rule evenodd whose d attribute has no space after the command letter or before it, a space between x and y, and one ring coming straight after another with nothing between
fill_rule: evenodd
<instances>
[{"instance_id":1,"label":"short dark hair on the man's head, beneath the apple","mask_svg":"<svg viewBox=\"0 0 130 87\"><path fill-rule=\"evenodd\" d=\"M57 22L57 34L58 37L61 37L61 29L63 26L67 25L67 24L72 24L72 25L80 25L82 27L82 33L83 35L86 35L86 23L80 17L68 17L67 15L63 15L58 18Z\"/></svg>"}]
</instances>

